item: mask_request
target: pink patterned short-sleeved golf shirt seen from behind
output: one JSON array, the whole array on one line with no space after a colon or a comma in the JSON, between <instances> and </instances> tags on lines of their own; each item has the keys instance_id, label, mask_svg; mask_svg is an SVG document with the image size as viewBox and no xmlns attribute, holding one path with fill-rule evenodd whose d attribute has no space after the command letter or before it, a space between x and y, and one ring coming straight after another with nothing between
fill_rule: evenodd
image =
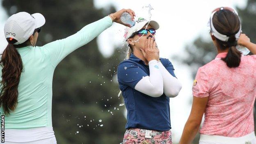
<instances>
[{"instance_id":1,"label":"pink patterned short-sleeved golf shirt seen from behind","mask_svg":"<svg viewBox=\"0 0 256 144\"><path fill-rule=\"evenodd\" d=\"M219 53L197 71L193 96L209 97L200 133L242 137L254 131L256 55L242 56L239 67L229 68L220 59L226 54Z\"/></svg>"}]
</instances>

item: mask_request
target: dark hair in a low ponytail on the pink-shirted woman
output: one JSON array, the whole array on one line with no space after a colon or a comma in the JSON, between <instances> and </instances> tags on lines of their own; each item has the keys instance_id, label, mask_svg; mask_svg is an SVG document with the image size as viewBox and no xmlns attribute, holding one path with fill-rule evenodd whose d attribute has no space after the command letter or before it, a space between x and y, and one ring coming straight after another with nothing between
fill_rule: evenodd
<instances>
[{"instance_id":1,"label":"dark hair in a low ponytail on the pink-shirted woman","mask_svg":"<svg viewBox=\"0 0 256 144\"><path fill-rule=\"evenodd\" d=\"M241 62L242 53L235 48L237 46L235 34L240 30L240 23L238 15L228 9L217 11L213 15L213 26L215 29L219 33L229 37L228 41L216 39L221 50L229 48L228 54L222 60L230 68L238 67Z\"/></svg>"}]
</instances>

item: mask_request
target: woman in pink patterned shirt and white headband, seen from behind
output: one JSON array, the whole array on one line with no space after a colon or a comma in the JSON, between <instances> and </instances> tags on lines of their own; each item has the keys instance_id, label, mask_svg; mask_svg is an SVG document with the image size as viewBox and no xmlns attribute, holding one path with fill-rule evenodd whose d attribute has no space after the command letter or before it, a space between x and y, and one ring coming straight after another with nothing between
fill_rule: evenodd
<instances>
[{"instance_id":1,"label":"woman in pink patterned shirt and white headband, seen from behind","mask_svg":"<svg viewBox=\"0 0 256 144\"><path fill-rule=\"evenodd\" d=\"M256 44L241 34L238 14L229 7L213 11L210 28L218 55L197 71L192 110L180 144L192 142L203 114L199 144L256 144ZM242 56L237 45L247 47L254 55Z\"/></svg>"}]
</instances>

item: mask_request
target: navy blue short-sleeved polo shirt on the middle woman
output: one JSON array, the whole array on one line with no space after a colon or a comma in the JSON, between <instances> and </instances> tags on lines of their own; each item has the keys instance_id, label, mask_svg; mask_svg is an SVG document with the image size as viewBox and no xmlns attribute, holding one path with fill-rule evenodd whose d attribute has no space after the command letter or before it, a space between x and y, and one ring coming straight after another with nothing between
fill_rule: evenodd
<instances>
[{"instance_id":1,"label":"navy blue short-sleeved polo shirt on the middle woman","mask_svg":"<svg viewBox=\"0 0 256 144\"><path fill-rule=\"evenodd\" d=\"M168 59L160 58L163 66L174 75L174 67ZM127 109L126 129L167 131L171 129L169 97L163 94L152 97L135 90L135 85L144 76L149 76L149 66L131 54L121 62L117 70L119 88Z\"/></svg>"}]
</instances>

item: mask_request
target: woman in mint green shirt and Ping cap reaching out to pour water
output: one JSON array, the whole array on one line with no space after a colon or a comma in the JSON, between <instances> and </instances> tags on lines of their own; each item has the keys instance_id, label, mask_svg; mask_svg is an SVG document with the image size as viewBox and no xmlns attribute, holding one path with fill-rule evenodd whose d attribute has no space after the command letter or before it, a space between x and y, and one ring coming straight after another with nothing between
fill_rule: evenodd
<instances>
[{"instance_id":1,"label":"woman in mint green shirt and Ping cap reaching out to pour water","mask_svg":"<svg viewBox=\"0 0 256 144\"><path fill-rule=\"evenodd\" d=\"M5 144L57 143L52 127L55 67L113 21L121 23L123 12L135 16L132 10L122 9L44 46L35 46L40 27L45 24L42 14L19 12L8 18L4 28L8 45L0 60L0 113L5 115Z\"/></svg>"}]
</instances>

